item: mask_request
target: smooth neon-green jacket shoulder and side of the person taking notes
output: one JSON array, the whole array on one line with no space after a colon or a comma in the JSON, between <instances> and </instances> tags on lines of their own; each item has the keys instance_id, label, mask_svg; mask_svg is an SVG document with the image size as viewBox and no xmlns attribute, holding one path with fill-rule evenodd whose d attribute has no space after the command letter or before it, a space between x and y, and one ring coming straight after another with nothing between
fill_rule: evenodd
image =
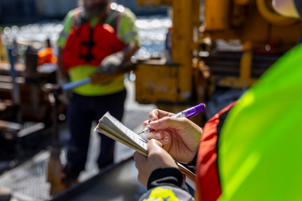
<instances>
[{"instance_id":1,"label":"smooth neon-green jacket shoulder and side of the person taking notes","mask_svg":"<svg viewBox=\"0 0 302 201\"><path fill-rule=\"evenodd\" d=\"M273 64L219 137L220 200L302 200L302 45Z\"/></svg>"}]
</instances>

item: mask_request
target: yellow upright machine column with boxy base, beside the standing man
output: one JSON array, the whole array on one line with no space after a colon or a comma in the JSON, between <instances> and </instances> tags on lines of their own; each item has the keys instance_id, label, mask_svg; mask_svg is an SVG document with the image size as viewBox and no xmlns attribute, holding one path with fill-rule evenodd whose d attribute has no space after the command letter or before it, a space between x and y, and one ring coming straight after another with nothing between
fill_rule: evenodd
<instances>
[{"instance_id":1,"label":"yellow upright machine column with boxy base, beside the standing man","mask_svg":"<svg viewBox=\"0 0 302 201\"><path fill-rule=\"evenodd\" d=\"M192 52L198 50L199 46L199 0L137 2L143 6L172 5L174 24L171 33L173 63L146 61L137 66L137 101L155 103L160 109L175 113L191 107L197 102L193 98L195 83L192 80Z\"/></svg>"}]
</instances>

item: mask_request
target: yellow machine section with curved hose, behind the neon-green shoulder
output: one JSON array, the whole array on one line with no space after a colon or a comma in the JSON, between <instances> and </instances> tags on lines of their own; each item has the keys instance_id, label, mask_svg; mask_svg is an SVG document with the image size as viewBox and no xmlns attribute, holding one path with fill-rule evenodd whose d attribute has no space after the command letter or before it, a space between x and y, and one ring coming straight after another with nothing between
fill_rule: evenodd
<instances>
[{"instance_id":1,"label":"yellow machine section with curved hose, behind the neon-green shoulder","mask_svg":"<svg viewBox=\"0 0 302 201\"><path fill-rule=\"evenodd\" d=\"M277 14L271 4L271 0L205 1L203 36L214 40L239 39L243 43L239 76L221 77L217 84L236 88L251 86L256 80L251 77L255 52L262 55L263 64L264 60L274 61L280 52L297 43L302 33L300 20Z\"/></svg>"}]
</instances>

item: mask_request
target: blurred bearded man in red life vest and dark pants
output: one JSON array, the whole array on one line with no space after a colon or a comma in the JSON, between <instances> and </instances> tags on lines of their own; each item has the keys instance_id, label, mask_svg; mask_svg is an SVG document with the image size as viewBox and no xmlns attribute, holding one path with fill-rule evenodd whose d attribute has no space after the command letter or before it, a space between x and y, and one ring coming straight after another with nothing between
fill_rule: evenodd
<instances>
[{"instance_id":1,"label":"blurred bearded man in red life vest and dark pants","mask_svg":"<svg viewBox=\"0 0 302 201\"><path fill-rule=\"evenodd\" d=\"M57 41L60 84L96 72L112 74L138 49L136 16L132 11L108 0L80 0L79 4L64 18L64 29ZM63 183L73 183L85 169L92 121L98 121L106 111L121 121L125 98L123 75L105 84L86 84L73 90L67 112L71 139ZM102 135L99 168L113 162L113 152L114 140Z\"/></svg>"}]
</instances>

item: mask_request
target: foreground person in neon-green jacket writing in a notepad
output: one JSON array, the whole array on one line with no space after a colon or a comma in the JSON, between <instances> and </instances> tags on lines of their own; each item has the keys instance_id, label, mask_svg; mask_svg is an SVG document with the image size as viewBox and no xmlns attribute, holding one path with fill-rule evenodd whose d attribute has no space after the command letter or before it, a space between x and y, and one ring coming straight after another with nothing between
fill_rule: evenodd
<instances>
[{"instance_id":1,"label":"foreground person in neon-green jacket writing in a notepad","mask_svg":"<svg viewBox=\"0 0 302 201\"><path fill-rule=\"evenodd\" d=\"M278 7L280 13L302 14L300 0L274 3L296 7ZM194 200L173 159L192 165L196 158L195 200L302 200L301 55L302 45L283 55L203 134L186 118L151 111L143 124L157 130L147 136L149 155L134 153L138 180L148 188L140 200Z\"/></svg>"}]
</instances>

